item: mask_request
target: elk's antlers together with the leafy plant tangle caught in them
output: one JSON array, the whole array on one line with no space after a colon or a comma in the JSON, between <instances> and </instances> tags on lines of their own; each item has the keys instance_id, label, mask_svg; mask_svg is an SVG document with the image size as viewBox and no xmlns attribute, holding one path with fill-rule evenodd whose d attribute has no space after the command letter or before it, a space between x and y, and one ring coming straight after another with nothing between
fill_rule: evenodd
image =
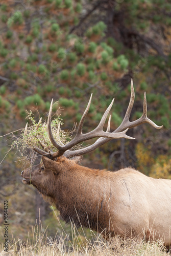
<instances>
[{"instance_id":1,"label":"elk's antlers together with the leafy plant tangle caught in them","mask_svg":"<svg viewBox=\"0 0 171 256\"><path fill-rule=\"evenodd\" d=\"M135 120L130 122L130 114L133 108L135 93L133 88L133 81L131 81L131 98L129 102L129 106L126 112L126 115L119 125L119 127L114 131L110 132L110 119L111 116L109 116L108 120L108 126L107 131L103 131L103 126L105 124L105 121L107 119L107 116L112 108L113 101L108 106L108 109L104 113L99 125L91 131L86 134L82 133L83 123L86 118L86 115L89 111L90 104L91 104L91 97L89 99L88 105L86 110L84 111L81 121L78 125L78 129L76 132L76 136L71 140L70 133L66 133L60 129L60 125L62 125L62 119L60 116L57 115L57 117L54 120L51 120L52 118L52 108L53 108L53 100L51 102L50 106L50 112L48 114L47 122L42 123L42 120L40 118L39 122L36 123L34 120L34 117L32 116L32 112L28 113L28 119L32 122L30 126L28 126L28 123L25 127L25 129L22 130L21 136L14 140L12 146L17 147L20 151L21 155L24 155L27 152L27 149L33 149L40 155L46 155L47 157L50 157L51 159L55 159L56 157L59 157L61 155L64 155L66 157L74 157L86 154L88 152L93 151L95 148L99 147L100 145L105 144L106 142L110 141L114 138L127 138L127 139L134 139L130 136L126 135L126 132L128 129L135 127L142 123L149 123L152 126L154 126L156 129L161 129L162 126L156 125L153 121L151 121L147 116L147 109L146 109L146 97L144 93L144 101L143 101L143 113L142 116ZM81 146L78 146L79 143L82 143L86 140L100 137L97 139L92 145L88 145L84 148L80 148Z\"/></svg>"}]
</instances>

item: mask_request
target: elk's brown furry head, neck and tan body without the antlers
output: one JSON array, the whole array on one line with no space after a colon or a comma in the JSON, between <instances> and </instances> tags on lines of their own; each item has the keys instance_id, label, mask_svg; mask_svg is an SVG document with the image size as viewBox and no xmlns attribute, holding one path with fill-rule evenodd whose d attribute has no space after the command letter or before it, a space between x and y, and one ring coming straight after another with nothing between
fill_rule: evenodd
<instances>
[{"instance_id":1,"label":"elk's brown furry head, neck and tan body without the antlers","mask_svg":"<svg viewBox=\"0 0 171 256\"><path fill-rule=\"evenodd\" d=\"M42 160L23 172L23 183L33 184L67 223L90 227L107 239L120 234L171 244L170 180L133 168L90 169L65 157Z\"/></svg>"}]
</instances>

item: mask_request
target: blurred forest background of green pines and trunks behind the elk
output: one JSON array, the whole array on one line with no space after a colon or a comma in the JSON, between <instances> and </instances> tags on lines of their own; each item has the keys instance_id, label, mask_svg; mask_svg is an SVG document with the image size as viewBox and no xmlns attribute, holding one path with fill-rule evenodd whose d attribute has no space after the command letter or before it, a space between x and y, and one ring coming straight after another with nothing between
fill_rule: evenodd
<instances>
[{"instance_id":1,"label":"blurred forest background of green pines and trunks behind the elk","mask_svg":"<svg viewBox=\"0 0 171 256\"><path fill-rule=\"evenodd\" d=\"M140 117L146 91L148 116L163 129L135 127L127 134L136 140L112 140L85 155L82 164L110 170L132 166L170 179L170 25L171 3L166 0L1 0L0 136L25 127L26 110L36 121L47 119L52 98L58 101L54 113L62 107L62 129L71 130L91 93L84 131L99 123L115 97L114 131L127 110L133 78L131 120ZM39 208L43 229L48 225L52 238L62 228L69 232L36 189L22 184L19 152L14 148L5 157L10 136L1 137L0 143L0 240L4 242L4 200L10 236L12 232L16 239L27 239Z\"/></svg>"}]
</instances>

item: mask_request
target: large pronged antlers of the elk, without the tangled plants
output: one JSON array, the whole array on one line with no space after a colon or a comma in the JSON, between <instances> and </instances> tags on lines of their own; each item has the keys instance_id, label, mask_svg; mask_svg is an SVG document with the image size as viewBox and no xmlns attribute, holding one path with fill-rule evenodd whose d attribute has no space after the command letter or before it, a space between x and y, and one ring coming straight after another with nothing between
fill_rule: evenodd
<instances>
[{"instance_id":1,"label":"large pronged antlers of the elk, without the tangled plants","mask_svg":"<svg viewBox=\"0 0 171 256\"><path fill-rule=\"evenodd\" d=\"M97 125L97 127L93 131L83 134L82 133L83 123L84 123L85 117L88 113L88 110L90 108L91 98L92 98L92 94L89 99L87 108L84 111L82 118L80 120L80 123L78 125L78 130L77 130L76 136L74 137L74 139L69 141L66 145L64 145L60 141L60 139L59 139L59 142L57 142L54 139L53 134L52 134L52 129L51 129L51 116L52 116L52 106L53 106L53 100L52 100L51 106L50 106L50 112L48 114L48 119L47 119L47 132L48 132L48 136L49 136L52 144L57 148L57 152L48 154L49 157L54 159L54 158L62 156L62 155L66 156L66 157L80 156L80 155L83 155L83 154L86 154L86 153L89 153L89 152L95 150L95 148L99 147L100 145L105 144L106 142L108 142L112 139L119 139L119 138L134 139L134 138L126 135L126 132L128 131L128 129L135 127L137 125L140 125L142 123L149 123L156 129L161 129L163 127L163 125L162 126L156 125L152 120L150 120L146 116L147 109L146 109L145 93L144 93L142 116L135 121L132 121L132 122L129 121L130 114L131 114L133 104L134 104L134 98L135 98L133 81L131 80L131 98L130 98L129 106L128 106L127 112L125 114L125 117L124 117L123 121L121 122L121 124L119 125L119 127L114 132L112 132L112 133L109 132L110 118L111 118L111 116L110 116L109 120L108 120L107 131L106 132L103 131L103 126L105 124L106 118L109 114L109 111L111 110L112 105L113 105L113 101L114 101L114 99L113 99L112 102L110 103L110 105L108 106L107 110L105 111L99 125ZM58 126L58 131L57 131L58 138L60 138L59 129L60 128ZM92 139L92 138L96 138L96 137L100 137L100 138L97 139L92 145L81 148L80 150L70 151L70 149L72 147L74 147L75 145L77 145L78 143ZM34 147L33 149L41 155L47 154L47 152L44 152L43 150L40 150L37 147Z\"/></svg>"}]
</instances>

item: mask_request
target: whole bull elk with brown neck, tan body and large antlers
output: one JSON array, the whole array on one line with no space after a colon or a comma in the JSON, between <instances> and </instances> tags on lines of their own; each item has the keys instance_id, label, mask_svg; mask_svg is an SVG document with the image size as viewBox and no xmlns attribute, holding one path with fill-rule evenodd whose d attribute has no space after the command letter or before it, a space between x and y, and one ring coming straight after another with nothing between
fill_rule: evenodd
<instances>
[{"instance_id":1,"label":"whole bull elk with brown neck, tan body and large antlers","mask_svg":"<svg viewBox=\"0 0 171 256\"><path fill-rule=\"evenodd\" d=\"M92 95L91 95L92 97ZM143 114L129 121L134 103L134 88L131 82L131 97L125 117L119 127L110 132L110 117L107 131L103 126L113 100L104 113L99 125L88 133L82 133L83 122L88 113L91 97L82 115L76 136L65 145L57 142L52 134L52 105L47 120L47 132L56 152L44 146L34 147L42 155L40 164L22 171L22 182L35 186L43 198L54 204L65 222L74 222L101 232L110 239L115 235L146 240L163 239L165 246L171 244L171 181L147 177L133 168L116 172L105 169L90 169L80 166L76 156L82 156L115 138L133 139L126 135L128 129L149 123L156 125L147 116L144 93ZM27 133L27 128L26 131ZM59 127L58 131L59 133ZM58 136L59 137L59 136ZM93 144L73 150L80 142L100 137ZM43 145L42 145L43 146ZM70 159L74 157L73 159Z\"/></svg>"}]
</instances>

